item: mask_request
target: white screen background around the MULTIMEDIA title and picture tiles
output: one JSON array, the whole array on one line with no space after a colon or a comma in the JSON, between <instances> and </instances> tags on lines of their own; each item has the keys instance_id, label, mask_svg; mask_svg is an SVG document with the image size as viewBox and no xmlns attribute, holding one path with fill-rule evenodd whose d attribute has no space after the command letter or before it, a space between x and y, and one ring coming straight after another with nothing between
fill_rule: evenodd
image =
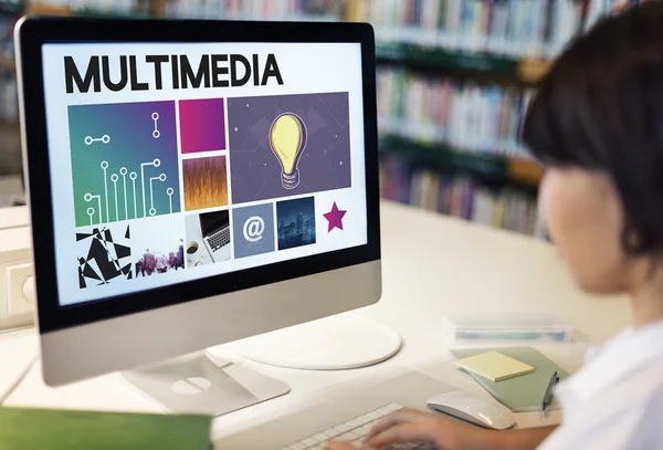
<instances>
[{"instance_id":1,"label":"white screen background around the MULTIMEDIA title and picture tiles","mask_svg":"<svg viewBox=\"0 0 663 450\"><path fill-rule=\"evenodd\" d=\"M242 87L217 87L217 88L188 88L172 90L170 72L164 71L164 90L157 91L154 86L154 67L151 64L145 64L147 54L186 54L193 66L197 66L202 54L229 54L239 53L244 55L259 54L261 61L265 61L266 54L275 55L278 69L284 84L278 85L273 80L266 86L254 86L252 83ZM108 55L112 62L115 62L115 70L110 72L112 79L119 77L117 61L120 55L136 55L138 61L138 80L150 82L150 90L133 92L128 88L122 92L109 92L103 88L101 93L74 93L66 94L63 70L63 56L71 55L76 61L81 71L87 66L90 55ZM269 264L273 262L302 258L311 254L345 249L349 247L361 245L367 242L367 220L366 220L366 179L365 179L365 159L364 159L364 118L362 118L362 92L361 92L361 54L358 43L187 43L187 44L45 44L43 46L44 64L44 90L46 105L46 124L49 132L49 157L51 164L51 184L53 191L53 211L54 211L54 231L55 231L55 270L59 282L59 294L61 305L71 305L80 302L99 300L118 294L147 290L156 286L164 286L181 281L189 281L200 278L207 278L220 273L232 272L252 266ZM165 65L166 66L166 65ZM77 250L76 233L90 232L94 228L90 226L76 227L77 220L74 211L74 188L72 184L73 164L72 164L72 135L70 129L70 106L71 105L94 105L94 104L125 104L125 103L145 103L164 102L179 100L203 100L203 98L224 98L224 149L204 151L200 155L182 153L181 129L176 127L177 133L177 161L173 170L180 174L178 193L185 192L183 180L181 177L182 165L185 160L198 157L215 158L225 157L225 170L228 180L232 180L233 167L233 147L229 137L234 130L232 125L235 117L230 107L229 101L239 102L241 97L250 97L249 108L253 102L260 102L261 98L274 95L302 95L302 94L328 94L347 93L348 113L349 113L349 147L350 147L350 187L341 189L325 190L315 193L297 193L287 196L287 199L311 198L314 197L314 214L316 242L314 244L294 247L286 250L274 250L266 253L253 254L249 257L232 255L232 259L215 264L203 264L197 268L186 270L170 271L159 273L152 276L134 278L133 280L122 280L122 282L110 282L103 285L87 285L80 287L78 283L78 263L82 257ZM175 103L175 121L180 123L181 104ZM166 111L167 115L167 111ZM164 116L166 117L166 116ZM91 119L91 124L98 125L102 119ZM91 125L92 126L92 125ZM148 129L151 133L151 129ZM165 130L166 133L166 130ZM166 135L164 135L166 136ZM98 137L98 136L96 136ZM91 145L99 147L101 145ZM97 148L98 149L98 148ZM315 150L308 148L307 150ZM272 155L272 157L274 157ZM339 161L340 163L340 161ZM166 167L164 167L166 169ZM172 170L172 169L171 169ZM256 169L256 174L260 171ZM158 175L158 174L150 174ZM302 174L304 177L304 174ZM169 180L172 177L168 177ZM261 176L256 176L255 182L260 182ZM232 202L234 181L228 184L228 199ZM110 184L112 186L112 184ZM122 192L122 190L120 190ZM112 189L109 196L113 196ZM120 193L122 197L122 193ZM173 196L175 197L175 196ZM151 242L164 242L168 240L173 242L173 237L183 237L185 247L187 242L187 217L200 212L209 212L228 207L212 207L202 210L186 211L185 195L180 195L176 201L175 210L180 212L169 214L159 214L148 218L129 219L114 221L108 224L113 228L122 224L122 231L128 224L130 230L131 258L128 262L131 270L135 270L134 259L143 252L144 247L151 245ZM240 197L238 197L240 198ZM278 227L278 201L285 198L260 199L257 201L245 201L241 198L241 207L264 206L276 203L272 210L274 213L274 244L277 248L277 227ZM161 198L161 201L164 198ZM158 202L159 200L157 200ZM94 202L94 201L93 201ZM179 205L177 205L179 202ZM338 208L346 210L343 218L344 229L334 229L328 231L328 221L323 216L329 212L333 202ZM243 216L239 210L235 214L235 206L230 205L231 209L231 229L233 239L236 238L234 223L235 216ZM80 209L80 208L78 208ZM238 208L239 209L239 208ZM286 208L287 209L287 208ZM105 214L105 211L103 212ZM110 211L113 216L115 211ZM286 213L286 212L284 212ZM119 217L124 212L118 213ZM139 214L140 216L140 214ZM129 214L130 217L130 214ZM190 221L190 220L189 220ZM78 219L78 224L80 219ZM102 224L103 227L103 224ZM97 227L98 228L98 227ZM117 236L117 232L115 232ZM124 237L119 232L120 238ZM120 239L122 240L122 239ZM122 244L122 243L118 243ZM172 245L172 243L170 243ZM234 250L234 244L233 244ZM84 257L84 255L83 255ZM239 257L239 258L238 258Z\"/></svg>"}]
</instances>

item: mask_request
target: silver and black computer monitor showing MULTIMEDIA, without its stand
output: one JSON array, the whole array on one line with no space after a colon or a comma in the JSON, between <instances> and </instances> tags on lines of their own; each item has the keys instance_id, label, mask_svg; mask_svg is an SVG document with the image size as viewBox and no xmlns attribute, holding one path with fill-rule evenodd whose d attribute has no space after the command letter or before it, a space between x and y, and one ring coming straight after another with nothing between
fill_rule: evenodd
<instances>
[{"instance_id":1,"label":"silver and black computer monitor showing MULTIMEDIA, without its stand","mask_svg":"<svg viewBox=\"0 0 663 450\"><path fill-rule=\"evenodd\" d=\"M49 385L380 299L370 25L29 18L15 42Z\"/></svg>"}]
</instances>

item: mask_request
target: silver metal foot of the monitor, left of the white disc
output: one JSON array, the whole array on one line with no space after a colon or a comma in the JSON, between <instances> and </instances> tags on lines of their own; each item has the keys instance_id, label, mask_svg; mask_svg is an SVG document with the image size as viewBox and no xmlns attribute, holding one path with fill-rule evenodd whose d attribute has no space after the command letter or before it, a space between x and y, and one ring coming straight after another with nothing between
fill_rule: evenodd
<instances>
[{"instance_id":1,"label":"silver metal foot of the monitor, left of the white disc","mask_svg":"<svg viewBox=\"0 0 663 450\"><path fill-rule=\"evenodd\" d=\"M281 397L290 386L198 352L123 373L134 387L177 414L221 416Z\"/></svg>"}]
</instances>

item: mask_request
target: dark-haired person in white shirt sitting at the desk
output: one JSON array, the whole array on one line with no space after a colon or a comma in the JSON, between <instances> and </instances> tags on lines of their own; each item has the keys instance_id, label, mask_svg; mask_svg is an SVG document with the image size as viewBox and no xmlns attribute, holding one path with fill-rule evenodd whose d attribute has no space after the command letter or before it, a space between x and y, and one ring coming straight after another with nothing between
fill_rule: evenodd
<instances>
[{"instance_id":1,"label":"dark-haired person in white shirt sitting at the desk","mask_svg":"<svg viewBox=\"0 0 663 450\"><path fill-rule=\"evenodd\" d=\"M559 427L493 431L404 410L376 425L366 449L663 449L663 1L575 41L543 80L523 138L545 164L541 217L571 274L587 292L630 294L632 327L558 386Z\"/></svg>"}]
</instances>

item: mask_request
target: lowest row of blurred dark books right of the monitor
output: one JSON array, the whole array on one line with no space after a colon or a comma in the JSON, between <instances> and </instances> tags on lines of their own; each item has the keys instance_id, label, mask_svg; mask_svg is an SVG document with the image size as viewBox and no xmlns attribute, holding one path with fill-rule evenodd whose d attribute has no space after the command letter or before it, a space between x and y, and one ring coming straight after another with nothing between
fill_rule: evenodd
<instances>
[{"instance_id":1,"label":"lowest row of blurred dark books right of the monitor","mask_svg":"<svg viewBox=\"0 0 663 450\"><path fill-rule=\"evenodd\" d=\"M461 175L409 165L392 156L380 164L382 198L413 205L485 226L545 239L534 196L482 186Z\"/></svg>"}]
</instances>

